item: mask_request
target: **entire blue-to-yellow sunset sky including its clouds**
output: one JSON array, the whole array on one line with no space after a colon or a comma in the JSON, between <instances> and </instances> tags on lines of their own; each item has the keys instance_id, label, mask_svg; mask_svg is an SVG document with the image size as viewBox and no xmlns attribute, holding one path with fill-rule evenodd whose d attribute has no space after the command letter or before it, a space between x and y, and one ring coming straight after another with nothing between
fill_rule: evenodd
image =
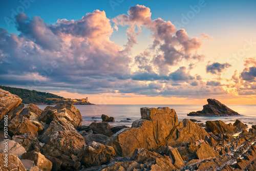
<instances>
[{"instance_id":1,"label":"entire blue-to-yellow sunset sky including its clouds","mask_svg":"<svg viewBox=\"0 0 256 171\"><path fill-rule=\"evenodd\" d=\"M255 104L255 6L0 1L0 84L95 104Z\"/></svg>"}]
</instances>

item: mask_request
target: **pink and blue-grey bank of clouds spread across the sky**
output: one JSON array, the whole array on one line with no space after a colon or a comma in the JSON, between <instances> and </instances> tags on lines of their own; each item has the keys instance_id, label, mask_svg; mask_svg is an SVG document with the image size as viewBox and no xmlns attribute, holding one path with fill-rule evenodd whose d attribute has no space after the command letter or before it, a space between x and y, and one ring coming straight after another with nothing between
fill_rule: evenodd
<instances>
[{"instance_id":1,"label":"pink and blue-grey bank of clouds spread across the sky","mask_svg":"<svg viewBox=\"0 0 256 171\"><path fill-rule=\"evenodd\" d=\"M0 28L0 80L7 86L81 94L199 98L227 93L220 82L193 72L204 58L197 53L202 39L189 37L170 21L153 20L150 8L145 6L133 6L127 14L113 19L95 10L78 20L58 19L52 24L22 13L17 16L16 27L19 35ZM118 27L127 27L124 47L111 41ZM150 46L133 52L143 30L151 33ZM240 82L241 78L246 80L245 87L256 87L249 82L255 78L255 68L249 66L253 62L248 59L247 68L232 81ZM219 74L230 66L216 62L206 71Z\"/></svg>"}]
</instances>

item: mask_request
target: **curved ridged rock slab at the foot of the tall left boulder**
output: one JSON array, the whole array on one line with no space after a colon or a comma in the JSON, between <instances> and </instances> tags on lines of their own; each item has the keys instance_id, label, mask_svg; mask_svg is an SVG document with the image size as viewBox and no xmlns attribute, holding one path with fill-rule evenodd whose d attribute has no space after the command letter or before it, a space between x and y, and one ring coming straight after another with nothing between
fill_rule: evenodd
<instances>
[{"instance_id":1,"label":"curved ridged rock slab at the foot of the tall left boulder","mask_svg":"<svg viewBox=\"0 0 256 171\"><path fill-rule=\"evenodd\" d=\"M57 120L51 121L48 128L45 130L45 132L39 136L39 140L41 142L47 143L50 140L50 136L55 131L73 131L76 132L73 124L68 122L65 118L59 118Z\"/></svg>"}]
</instances>

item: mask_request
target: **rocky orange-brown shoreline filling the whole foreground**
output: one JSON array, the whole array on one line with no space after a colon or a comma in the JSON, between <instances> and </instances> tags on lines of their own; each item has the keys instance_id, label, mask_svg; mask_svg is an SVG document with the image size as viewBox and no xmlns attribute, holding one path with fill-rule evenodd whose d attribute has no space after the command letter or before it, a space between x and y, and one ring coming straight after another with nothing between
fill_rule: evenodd
<instances>
[{"instance_id":1,"label":"rocky orange-brown shoreline filling the whole foreground","mask_svg":"<svg viewBox=\"0 0 256 171\"><path fill-rule=\"evenodd\" d=\"M256 125L247 131L239 120L216 120L202 127L179 122L167 107L141 108L132 127L105 121L81 125L79 110L67 103L24 108L22 99L0 89L0 169L256 170Z\"/></svg>"}]
</instances>

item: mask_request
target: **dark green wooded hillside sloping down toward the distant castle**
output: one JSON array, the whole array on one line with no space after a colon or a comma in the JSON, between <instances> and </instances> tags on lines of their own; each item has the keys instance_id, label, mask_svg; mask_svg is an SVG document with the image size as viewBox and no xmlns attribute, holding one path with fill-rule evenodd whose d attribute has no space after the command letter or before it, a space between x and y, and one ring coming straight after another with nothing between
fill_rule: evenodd
<instances>
[{"instance_id":1,"label":"dark green wooded hillside sloping down toward the distant castle","mask_svg":"<svg viewBox=\"0 0 256 171\"><path fill-rule=\"evenodd\" d=\"M53 103L60 103L60 101L67 102L67 101L62 101L65 99L64 97L57 96L51 93L38 92L35 90L31 91L27 89L19 89L19 88L5 87L5 86L0 86L0 89L6 90L12 94L19 96L20 98L22 98L23 103L25 104L29 104L29 103L53 104Z\"/></svg>"}]
</instances>

